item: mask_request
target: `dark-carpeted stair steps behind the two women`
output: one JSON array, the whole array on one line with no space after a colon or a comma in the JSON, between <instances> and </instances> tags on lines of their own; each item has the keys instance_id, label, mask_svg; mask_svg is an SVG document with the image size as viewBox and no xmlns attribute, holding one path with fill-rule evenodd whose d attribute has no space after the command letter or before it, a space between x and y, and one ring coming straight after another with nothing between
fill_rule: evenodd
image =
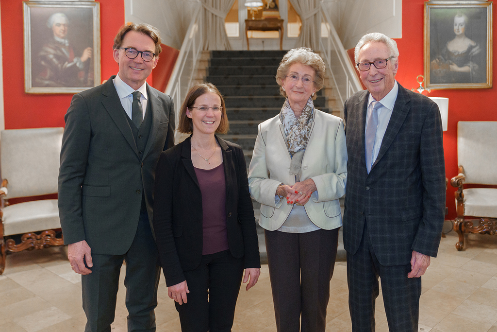
<instances>
[{"instance_id":1,"label":"dark-carpeted stair steps behind the two women","mask_svg":"<svg viewBox=\"0 0 497 332\"><path fill-rule=\"evenodd\" d=\"M257 126L277 115L285 101L276 83L276 70L287 51L211 51L205 82L214 84L225 98L230 130L220 137L239 144L247 167L257 137ZM329 112L326 89L318 92L314 106ZM260 216L260 203L252 201L255 219ZM264 232L257 224L261 262L267 262ZM338 257L337 257L338 258Z\"/></svg>"}]
</instances>

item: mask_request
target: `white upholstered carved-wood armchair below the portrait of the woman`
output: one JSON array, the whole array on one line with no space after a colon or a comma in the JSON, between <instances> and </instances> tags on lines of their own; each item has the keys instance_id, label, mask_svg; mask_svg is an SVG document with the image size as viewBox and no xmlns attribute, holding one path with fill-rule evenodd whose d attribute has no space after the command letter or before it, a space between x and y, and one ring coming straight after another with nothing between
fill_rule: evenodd
<instances>
[{"instance_id":1,"label":"white upholstered carved-wood armchair below the portrait of the woman","mask_svg":"<svg viewBox=\"0 0 497 332\"><path fill-rule=\"evenodd\" d=\"M497 186L497 121L457 123L457 162L459 174L450 183L458 188L454 230L462 250L465 233L497 234L497 188L491 188Z\"/></svg>"}]
</instances>

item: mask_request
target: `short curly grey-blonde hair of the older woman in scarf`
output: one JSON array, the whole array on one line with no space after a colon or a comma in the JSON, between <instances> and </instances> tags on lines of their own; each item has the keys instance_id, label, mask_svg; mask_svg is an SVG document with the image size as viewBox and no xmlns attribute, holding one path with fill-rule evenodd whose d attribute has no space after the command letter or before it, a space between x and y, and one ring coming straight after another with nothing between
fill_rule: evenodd
<instances>
[{"instance_id":1,"label":"short curly grey-blonde hair of the older woman in scarf","mask_svg":"<svg viewBox=\"0 0 497 332\"><path fill-rule=\"evenodd\" d=\"M280 86L281 96L287 98L288 95L281 86L283 80L288 75L288 71L293 64L300 63L304 66L309 66L314 70L314 87L316 91L320 91L325 85L325 70L326 65L316 52L308 47L294 48L288 51L281 60L278 70L276 71L276 83ZM316 99L315 94L312 99Z\"/></svg>"}]
</instances>

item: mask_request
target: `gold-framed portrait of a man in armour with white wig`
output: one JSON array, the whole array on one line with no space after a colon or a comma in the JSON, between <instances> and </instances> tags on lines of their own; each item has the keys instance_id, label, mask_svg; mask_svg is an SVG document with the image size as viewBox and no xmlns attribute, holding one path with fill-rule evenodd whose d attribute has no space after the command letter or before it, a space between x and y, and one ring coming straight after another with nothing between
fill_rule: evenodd
<instances>
[{"instance_id":1,"label":"gold-framed portrait of a man in armour with white wig","mask_svg":"<svg viewBox=\"0 0 497 332\"><path fill-rule=\"evenodd\" d=\"M100 84L99 5L23 1L26 93L75 94Z\"/></svg>"}]
</instances>

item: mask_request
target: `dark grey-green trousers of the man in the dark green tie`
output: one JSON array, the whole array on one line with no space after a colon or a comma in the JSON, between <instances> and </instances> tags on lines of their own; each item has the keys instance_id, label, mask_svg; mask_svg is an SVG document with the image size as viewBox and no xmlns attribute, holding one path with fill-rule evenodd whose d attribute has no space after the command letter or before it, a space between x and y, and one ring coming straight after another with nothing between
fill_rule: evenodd
<instances>
[{"instance_id":1,"label":"dark grey-green trousers of the man in the dark green tie","mask_svg":"<svg viewBox=\"0 0 497 332\"><path fill-rule=\"evenodd\" d=\"M114 321L119 272L126 262L126 308L128 331L156 331L154 309L161 267L159 252L152 236L147 213L140 214L135 239L124 255L91 254L91 273L83 275L83 309L85 332L110 332Z\"/></svg>"}]
</instances>

